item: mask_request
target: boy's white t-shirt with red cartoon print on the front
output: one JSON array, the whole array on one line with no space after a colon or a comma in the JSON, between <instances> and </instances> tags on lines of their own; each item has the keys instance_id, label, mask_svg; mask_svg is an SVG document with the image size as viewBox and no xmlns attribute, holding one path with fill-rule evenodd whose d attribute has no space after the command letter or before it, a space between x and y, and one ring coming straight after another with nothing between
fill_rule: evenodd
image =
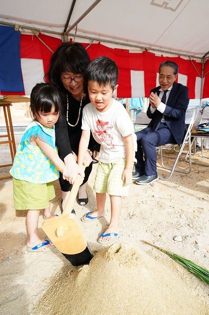
<instances>
[{"instance_id":1,"label":"boy's white t-shirt with red cartoon print on the front","mask_svg":"<svg viewBox=\"0 0 209 315\"><path fill-rule=\"evenodd\" d=\"M89 103L83 108L82 130L91 130L95 140L101 144L99 160L113 163L126 157L123 137L132 134L134 151L137 150L133 123L124 106L115 99L105 112L99 112Z\"/></svg>"}]
</instances>

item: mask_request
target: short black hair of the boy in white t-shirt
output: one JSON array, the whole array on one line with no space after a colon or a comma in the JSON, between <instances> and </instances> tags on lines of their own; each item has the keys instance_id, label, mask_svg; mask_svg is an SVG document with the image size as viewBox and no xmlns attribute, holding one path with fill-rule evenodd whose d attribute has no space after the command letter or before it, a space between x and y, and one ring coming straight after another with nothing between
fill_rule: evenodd
<instances>
[{"instance_id":1,"label":"short black hair of the boy in white t-shirt","mask_svg":"<svg viewBox=\"0 0 209 315\"><path fill-rule=\"evenodd\" d=\"M86 73L86 82L97 82L99 86L109 85L114 90L118 83L118 66L108 57L98 57L92 60Z\"/></svg>"}]
</instances>

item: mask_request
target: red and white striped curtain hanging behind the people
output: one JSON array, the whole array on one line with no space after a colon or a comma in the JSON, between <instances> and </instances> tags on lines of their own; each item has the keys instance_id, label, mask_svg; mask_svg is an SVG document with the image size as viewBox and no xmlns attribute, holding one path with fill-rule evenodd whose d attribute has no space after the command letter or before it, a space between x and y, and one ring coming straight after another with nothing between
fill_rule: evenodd
<instances>
[{"instance_id":1,"label":"red and white striped curtain hanging behind the people","mask_svg":"<svg viewBox=\"0 0 209 315\"><path fill-rule=\"evenodd\" d=\"M47 46L55 51L61 40L39 34ZM36 36L21 34L21 68L25 95L30 95L37 82L43 82L47 73L52 52ZM83 44L87 47L88 44ZM189 88L189 98L200 98L201 63L181 57L163 57L144 51L142 53L127 49L109 48L100 43L91 44L87 52L92 59L106 56L113 59L119 68L118 97L149 97L150 90L158 85L158 67L160 63L171 60L179 65L177 82ZM205 74L209 72L209 60L205 63ZM2 94L18 94L3 93ZM19 93L22 94L23 93ZM204 79L203 98L209 97L209 75Z\"/></svg>"}]
</instances>

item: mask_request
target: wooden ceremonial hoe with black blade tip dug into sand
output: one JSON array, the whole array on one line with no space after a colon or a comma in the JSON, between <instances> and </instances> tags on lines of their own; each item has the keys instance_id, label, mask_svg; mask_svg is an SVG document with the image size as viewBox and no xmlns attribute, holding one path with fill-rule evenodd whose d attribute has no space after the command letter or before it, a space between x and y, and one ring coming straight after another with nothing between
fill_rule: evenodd
<instances>
[{"instance_id":1,"label":"wooden ceremonial hoe with black blade tip dug into sand","mask_svg":"<svg viewBox=\"0 0 209 315\"><path fill-rule=\"evenodd\" d=\"M62 215L47 219L42 224L42 229L52 243L73 266L88 264L93 257L87 246L86 238L80 228L75 211L73 211L74 213L71 212L81 184L82 178L78 174Z\"/></svg>"}]
</instances>

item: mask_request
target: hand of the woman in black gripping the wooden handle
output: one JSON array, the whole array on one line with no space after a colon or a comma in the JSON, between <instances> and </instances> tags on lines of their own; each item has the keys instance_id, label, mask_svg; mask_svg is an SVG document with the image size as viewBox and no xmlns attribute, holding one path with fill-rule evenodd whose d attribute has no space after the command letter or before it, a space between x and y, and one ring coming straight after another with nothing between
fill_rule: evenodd
<instances>
[{"instance_id":1,"label":"hand of the woman in black gripping the wooden handle","mask_svg":"<svg viewBox=\"0 0 209 315\"><path fill-rule=\"evenodd\" d=\"M70 184L73 184L78 174L80 174L80 176L84 178L84 170L76 163L76 160L72 153L64 158L64 162L66 167L62 175L63 179L66 179Z\"/></svg>"}]
</instances>

